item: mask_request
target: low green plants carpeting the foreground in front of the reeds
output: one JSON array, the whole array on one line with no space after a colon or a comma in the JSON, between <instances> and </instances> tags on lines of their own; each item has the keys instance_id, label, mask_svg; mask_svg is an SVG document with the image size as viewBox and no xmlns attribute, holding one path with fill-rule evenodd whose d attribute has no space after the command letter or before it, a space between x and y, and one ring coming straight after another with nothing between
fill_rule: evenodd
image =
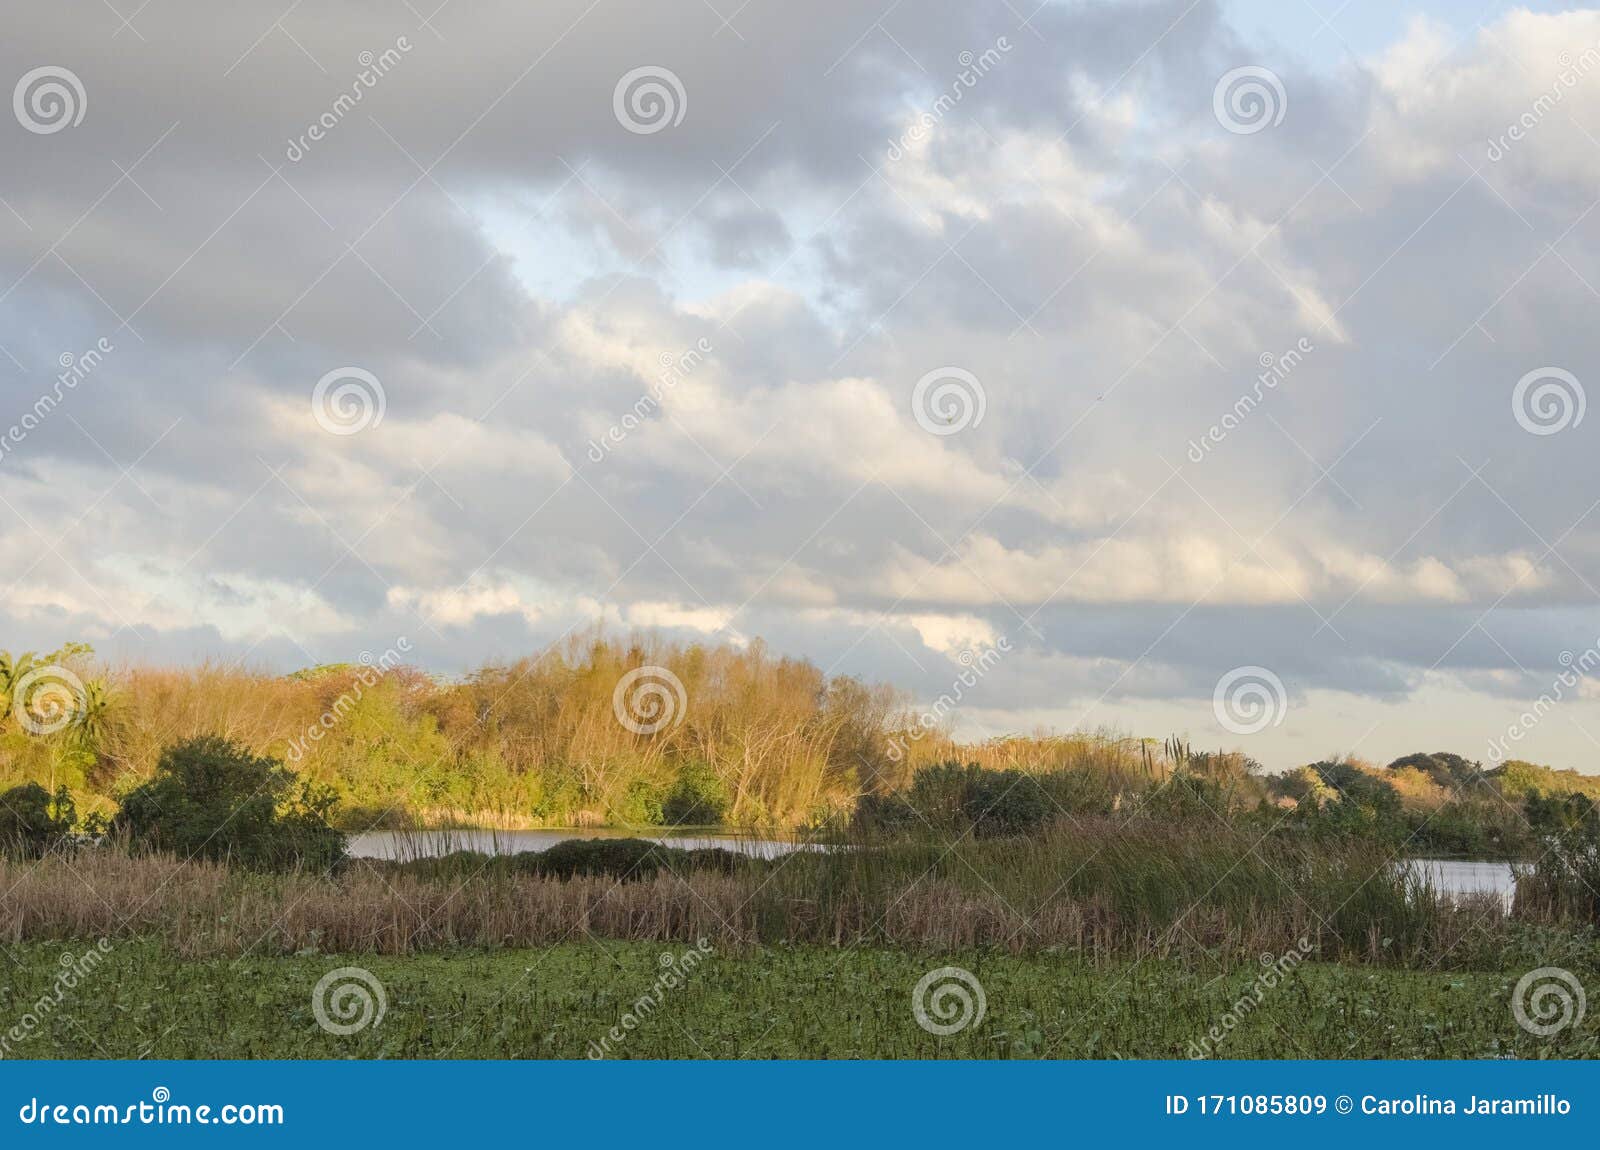
<instances>
[{"instance_id":1,"label":"low green plants carpeting the foreground in front of the reeds","mask_svg":"<svg viewBox=\"0 0 1600 1150\"><path fill-rule=\"evenodd\" d=\"M53 996L61 955L86 944L14 944L0 1025ZM8 1057L341 1059L584 1057L664 969L669 948L579 942L539 950L410 956L186 960L123 940ZM669 953L682 955L675 945ZM981 980L987 1014L938 1036L917 1025L912 987L936 966ZM384 987L376 1027L322 1030L312 987L360 966ZM1250 995L1261 968L1194 971L1174 961L1091 968L1069 955L914 955L784 947L715 952L666 990L613 1057L1186 1057ZM1430 972L1307 963L1291 969L1221 1043L1221 1057L1582 1057L1595 1017L1552 1038L1522 1032L1522 971Z\"/></svg>"}]
</instances>

